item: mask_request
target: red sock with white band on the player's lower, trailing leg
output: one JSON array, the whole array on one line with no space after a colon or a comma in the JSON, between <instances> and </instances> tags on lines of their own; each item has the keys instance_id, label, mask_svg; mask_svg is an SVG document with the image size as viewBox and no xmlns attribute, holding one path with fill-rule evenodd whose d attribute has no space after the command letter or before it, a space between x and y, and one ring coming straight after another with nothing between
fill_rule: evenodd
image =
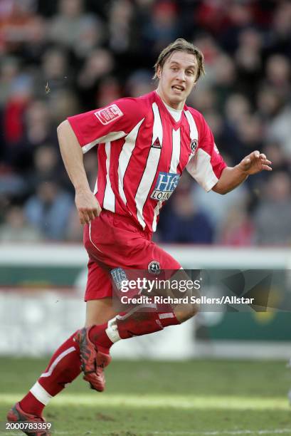
<instances>
[{"instance_id":1,"label":"red sock with white band on the player's lower, trailing leg","mask_svg":"<svg viewBox=\"0 0 291 436\"><path fill-rule=\"evenodd\" d=\"M40 416L48 401L80 374L80 355L73 336L75 333L55 351L45 372L21 400L24 412Z\"/></svg>"}]
</instances>

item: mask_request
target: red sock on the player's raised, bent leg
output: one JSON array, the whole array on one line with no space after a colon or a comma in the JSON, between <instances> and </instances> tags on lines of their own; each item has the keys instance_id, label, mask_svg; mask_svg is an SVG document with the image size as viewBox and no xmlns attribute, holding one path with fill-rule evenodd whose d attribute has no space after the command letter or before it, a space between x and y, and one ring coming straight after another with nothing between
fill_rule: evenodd
<instances>
[{"instance_id":1,"label":"red sock on the player's raised, bent leg","mask_svg":"<svg viewBox=\"0 0 291 436\"><path fill-rule=\"evenodd\" d=\"M135 308L128 313L117 315L108 323L92 326L89 337L103 353L109 353L113 343L119 339L142 336L179 324L174 312L144 311Z\"/></svg>"}]
</instances>

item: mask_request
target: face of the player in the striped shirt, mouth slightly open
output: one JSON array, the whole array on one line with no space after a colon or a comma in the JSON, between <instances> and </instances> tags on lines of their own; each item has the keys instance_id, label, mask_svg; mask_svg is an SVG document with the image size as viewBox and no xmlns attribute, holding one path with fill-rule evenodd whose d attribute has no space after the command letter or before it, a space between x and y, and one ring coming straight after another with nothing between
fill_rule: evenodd
<instances>
[{"instance_id":1,"label":"face of the player in the striped shirt, mouth slightly open","mask_svg":"<svg viewBox=\"0 0 291 436\"><path fill-rule=\"evenodd\" d=\"M196 57L184 51L174 51L166 59L157 76L159 95L164 102L174 109L182 109L186 98L191 93L197 76Z\"/></svg>"}]
</instances>

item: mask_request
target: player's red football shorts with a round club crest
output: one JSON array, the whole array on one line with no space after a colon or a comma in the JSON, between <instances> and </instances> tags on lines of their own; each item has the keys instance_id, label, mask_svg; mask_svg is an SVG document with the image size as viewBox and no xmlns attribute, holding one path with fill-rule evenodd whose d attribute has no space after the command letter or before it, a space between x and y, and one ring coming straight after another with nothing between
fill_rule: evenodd
<instances>
[{"instance_id":1,"label":"player's red football shorts with a round club crest","mask_svg":"<svg viewBox=\"0 0 291 436\"><path fill-rule=\"evenodd\" d=\"M84 245L89 254L85 301L112 296L110 270L180 269L181 265L151 241L130 217L103 210L84 228Z\"/></svg>"}]
</instances>

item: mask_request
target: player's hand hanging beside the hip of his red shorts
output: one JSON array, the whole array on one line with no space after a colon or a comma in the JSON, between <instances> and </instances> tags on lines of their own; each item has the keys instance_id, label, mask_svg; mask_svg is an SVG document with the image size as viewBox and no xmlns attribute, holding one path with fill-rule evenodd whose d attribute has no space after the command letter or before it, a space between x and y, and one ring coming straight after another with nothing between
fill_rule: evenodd
<instances>
[{"instance_id":1,"label":"player's hand hanging beside the hip of his red shorts","mask_svg":"<svg viewBox=\"0 0 291 436\"><path fill-rule=\"evenodd\" d=\"M75 205L81 224L89 224L92 219L99 217L102 210L95 195L90 190L76 190Z\"/></svg>"}]
</instances>

